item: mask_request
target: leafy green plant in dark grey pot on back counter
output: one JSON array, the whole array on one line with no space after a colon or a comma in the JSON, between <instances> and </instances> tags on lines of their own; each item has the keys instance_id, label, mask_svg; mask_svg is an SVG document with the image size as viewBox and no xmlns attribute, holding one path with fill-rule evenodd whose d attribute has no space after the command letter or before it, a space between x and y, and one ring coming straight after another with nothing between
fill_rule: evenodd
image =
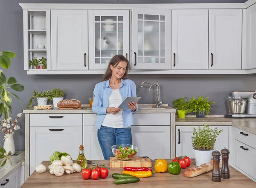
<instances>
[{"instance_id":1,"label":"leafy green plant in dark grey pot on back counter","mask_svg":"<svg viewBox=\"0 0 256 188\"><path fill-rule=\"evenodd\" d=\"M192 99L189 100L190 111L195 112L197 118L204 118L205 113L208 115L209 110L212 109L211 104L214 105L214 102L207 101L208 98L209 97L204 98L204 96L202 97L200 95L197 99L193 96Z\"/></svg>"}]
</instances>

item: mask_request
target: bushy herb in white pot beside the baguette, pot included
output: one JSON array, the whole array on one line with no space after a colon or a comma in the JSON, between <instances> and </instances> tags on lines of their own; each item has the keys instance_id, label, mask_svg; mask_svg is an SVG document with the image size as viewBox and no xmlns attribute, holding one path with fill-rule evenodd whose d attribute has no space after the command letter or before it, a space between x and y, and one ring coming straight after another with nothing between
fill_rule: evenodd
<instances>
[{"instance_id":1,"label":"bushy herb in white pot beside the baguette, pot included","mask_svg":"<svg viewBox=\"0 0 256 188\"><path fill-rule=\"evenodd\" d=\"M204 122L203 125L203 128L200 126L198 126L198 129L193 127L194 132L191 136L195 154L195 165L197 166L212 160L212 151L214 149L216 138L223 132L223 130L218 130L218 127L211 129L210 125L206 122Z\"/></svg>"}]
</instances>

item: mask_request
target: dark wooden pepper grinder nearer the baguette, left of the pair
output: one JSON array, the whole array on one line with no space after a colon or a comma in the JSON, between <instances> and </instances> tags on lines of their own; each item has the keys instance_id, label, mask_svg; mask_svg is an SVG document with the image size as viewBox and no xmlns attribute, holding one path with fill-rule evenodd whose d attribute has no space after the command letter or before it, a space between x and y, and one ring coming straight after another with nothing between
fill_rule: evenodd
<instances>
[{"instance_id":1,"label":"dark wooden pepper grinder nearer the baguette, left of the pair","mask_svg":"<svg viewBox=\"0 0 256 188\"><path fill-rule=\"evenodd\" d=\"M220 156L221 152L217 149L212 152L213 170L212 170L212 181L221 182L221 171L220 171Z\"/></svg>"}]
</instances>

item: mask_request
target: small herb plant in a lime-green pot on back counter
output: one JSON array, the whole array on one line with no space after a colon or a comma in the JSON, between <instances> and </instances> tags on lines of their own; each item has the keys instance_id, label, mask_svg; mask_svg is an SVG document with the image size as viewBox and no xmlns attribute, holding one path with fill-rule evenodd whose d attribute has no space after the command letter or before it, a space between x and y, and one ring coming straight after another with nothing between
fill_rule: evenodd
<instances>
[{"instance_id":1,"label":"small herb plant in a lime-green pot on back counter","mask_svg":"<svg viewBox=\"0 0 256 188\"><path fill-rule=\"evenodd\" d=\"M177 109L179 118L185 118L186 114L191 112L189 109L189 103L186 101L186 98L187 97L177 98L176 100L172 101L172 107Z\"/></svg>"}]
</instances>

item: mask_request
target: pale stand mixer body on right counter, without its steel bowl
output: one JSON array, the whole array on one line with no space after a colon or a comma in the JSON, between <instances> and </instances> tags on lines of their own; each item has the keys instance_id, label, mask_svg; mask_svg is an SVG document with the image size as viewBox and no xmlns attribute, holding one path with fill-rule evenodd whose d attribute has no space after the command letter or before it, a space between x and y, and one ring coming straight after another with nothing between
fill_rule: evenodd
<instances>
[{"instance_id":1,"label":"pale stand mixer body on right counter, without its steel bowl","mask_svg":"<svg viewBox=\"0 0 256 188\"><path fill-rule=\"evenodd\" d=\"M237 100L247 99L247 104L244 113L228 113L226 118L256 118L256 91L232 91L231 95Z\"/></svg>"}]
</instances>

